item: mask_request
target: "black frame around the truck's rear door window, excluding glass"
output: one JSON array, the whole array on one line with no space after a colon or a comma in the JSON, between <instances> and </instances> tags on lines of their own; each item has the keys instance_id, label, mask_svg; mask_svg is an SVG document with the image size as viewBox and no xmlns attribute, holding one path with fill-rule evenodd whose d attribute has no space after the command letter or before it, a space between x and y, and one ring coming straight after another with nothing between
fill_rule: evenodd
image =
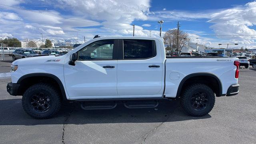
<instances>
[{"instance_id":1,"label":"black frame around the truck's rear door window, excluding glass","mask_svg":"<svg viewBox=\"0 0 256 144\"><path fill-rule=\"evenodd\" d=\"M118 60L147 60L150 58L156 57L156 41L153 41L153 50L154 50L154 56L151 56L149 58L134 58L134 59L124 59L124 40L141 40L141 39L119 39L119 44L118 44Z\"/></svg>"}]
</instances>

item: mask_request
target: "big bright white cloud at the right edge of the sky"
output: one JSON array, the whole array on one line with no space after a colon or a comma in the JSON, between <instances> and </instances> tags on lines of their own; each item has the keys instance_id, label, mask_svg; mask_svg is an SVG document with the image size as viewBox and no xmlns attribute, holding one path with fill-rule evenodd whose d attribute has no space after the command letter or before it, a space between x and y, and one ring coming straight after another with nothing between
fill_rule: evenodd
<instances>
[{"instance_id":1,"label":"big bright white cloud at the right edge of the sky","mask_svg":"<svg viewBox=\"0 0 256 144\"><path fill-rule=\"evenodd\" d=\"M255 17L256 2L249 2L242 7L211 14L211 20L208 22L213 23L210 28L214 30L218 38L229 38L230 42L236 41L240 44L254 44L256 38L253 37L256 37L256 30L250 26L256 25Z\"/></svg>"}]
</instances>

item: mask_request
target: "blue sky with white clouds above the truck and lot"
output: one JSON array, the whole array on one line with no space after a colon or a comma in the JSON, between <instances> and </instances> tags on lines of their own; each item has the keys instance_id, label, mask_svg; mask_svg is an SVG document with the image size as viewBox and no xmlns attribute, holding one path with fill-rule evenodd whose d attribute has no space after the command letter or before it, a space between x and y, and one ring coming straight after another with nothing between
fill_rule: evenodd
<instances>
[{"instance_id":1,"label":"blue sky with white clouds above the truck and lot","mask_svg":"<svg viewBox=\"0 0 256 144\"><path fill-rule=\"evenodd\" d=\"M218 43L256 46L256 2L251 0L0 0L0 36L19 39L76 38L94 35L159 36L176 28L192 42L217 47ZM29 10L29 11L27 11ZM255 20L254 20L255 19Z\"/></svg>"}]
</instances>

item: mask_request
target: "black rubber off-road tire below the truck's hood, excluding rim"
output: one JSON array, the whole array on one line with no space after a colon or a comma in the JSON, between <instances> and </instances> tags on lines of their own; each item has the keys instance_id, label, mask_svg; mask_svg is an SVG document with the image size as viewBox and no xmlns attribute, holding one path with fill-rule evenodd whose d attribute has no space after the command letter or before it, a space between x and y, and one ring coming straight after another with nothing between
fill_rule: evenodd
<instances>
[{"instance_id":1,"label":"black rubber off-road tire below the truck's hood, excluding rim","mask_svg":"<svg viewBox=\"0 0 256 144\"><path fill-rule=\"evenodd\" d=\"M30 104L30 100L32 96L37 93L43 92L50 98L50 108L46 112L37 112L35 109L32 108L32 104ZM50 84L46 83L38 83L30 86L22 96L22 106L24 111L31 116L32 118L36 119L46 119L51 118L56 114L61 107L61 99L60 94L56 88Z\"/></svg>"}]
</instances>

